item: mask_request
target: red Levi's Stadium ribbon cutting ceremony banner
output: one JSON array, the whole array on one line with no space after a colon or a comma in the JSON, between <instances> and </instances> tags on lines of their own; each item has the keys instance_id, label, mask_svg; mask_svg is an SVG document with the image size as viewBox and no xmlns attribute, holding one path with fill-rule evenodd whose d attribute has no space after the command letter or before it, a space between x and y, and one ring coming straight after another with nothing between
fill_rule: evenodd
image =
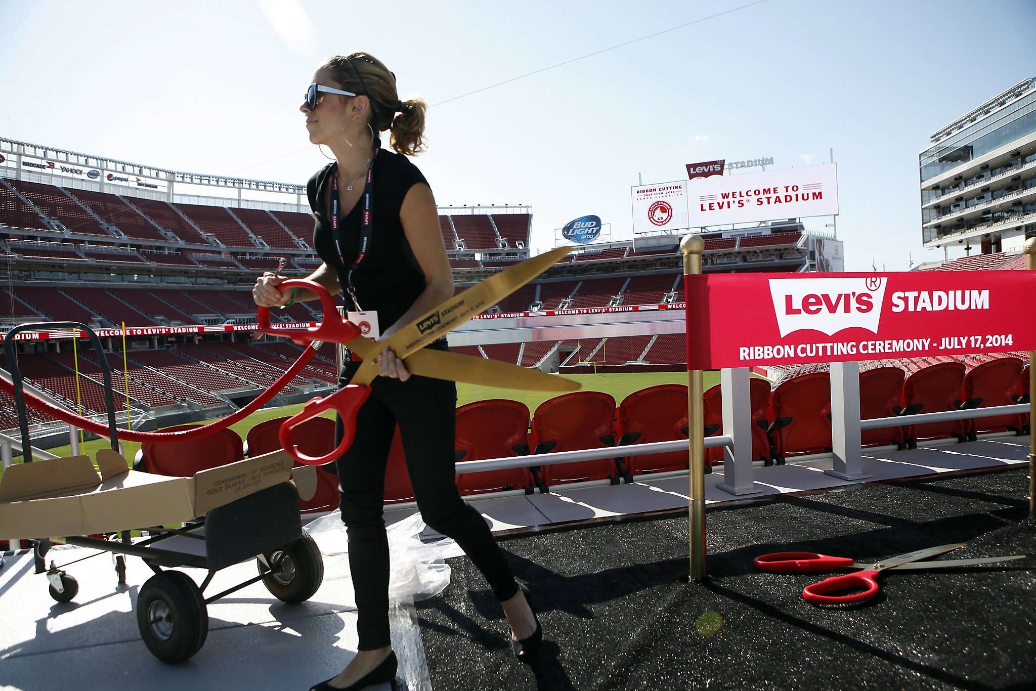
<instances>
[{"instance_id":1,"label":"red Levi's Stadium ribbon cutting ceremony banner","mask_svg":"<svg viewBox=\"0 0 1036 691\"><path fill-rule=\"evenodd\" d=\"M1036 271L687 277L688 368L1036 349Z\"/></svg>"}]
</instances>

